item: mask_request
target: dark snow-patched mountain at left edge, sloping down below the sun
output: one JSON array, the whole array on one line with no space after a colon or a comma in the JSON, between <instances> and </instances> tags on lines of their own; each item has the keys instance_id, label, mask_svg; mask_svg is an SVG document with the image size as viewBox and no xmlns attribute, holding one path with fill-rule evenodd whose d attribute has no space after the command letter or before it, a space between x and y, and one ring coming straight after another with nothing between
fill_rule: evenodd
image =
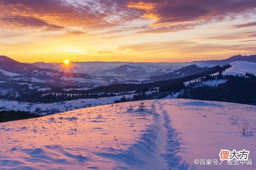
<instances>
[{"instance_id":1,"label":"dark snow-patched mountain at left edge, sloping down below the sun","mask_svg":"<svg viewBox=\"0 0 256 170\"><path fill-rule=\"evenodd\" d=\"M6 56L0 56L0 78L1 80L37 82L52 86L90 86L123 80L112 76L91 76L83 73L40 68L32 64L20 63Z\"/></svg>"}]
</instances>

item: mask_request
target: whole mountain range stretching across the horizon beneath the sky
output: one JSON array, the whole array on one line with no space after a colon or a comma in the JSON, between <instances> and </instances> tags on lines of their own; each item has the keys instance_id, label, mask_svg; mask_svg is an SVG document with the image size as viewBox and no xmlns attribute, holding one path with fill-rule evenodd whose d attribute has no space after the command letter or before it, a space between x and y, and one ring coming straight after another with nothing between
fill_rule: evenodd
<instances>
[{"instance_id":1,"label":"whole mountain range stretching across the horizon beneath the sky","mask_svg":"<svg viewBox=\"0 0 256 170\"><path fill-rule=\"evenodd\" d=\"M46 87L93 87L181 78L198 74L212 66L235 61L256 63L256 55L235 55L224 60L184 63L74 62L69 66L63 63L20 63L9 57L0 56L0 79Z\"/></svg>"}]
</instances>

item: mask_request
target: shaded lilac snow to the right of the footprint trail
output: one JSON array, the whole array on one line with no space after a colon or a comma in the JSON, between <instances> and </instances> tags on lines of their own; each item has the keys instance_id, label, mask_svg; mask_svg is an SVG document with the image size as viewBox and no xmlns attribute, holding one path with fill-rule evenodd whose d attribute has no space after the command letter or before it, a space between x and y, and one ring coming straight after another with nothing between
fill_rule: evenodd
<instances>
[{"instance_id":1,"label":"shaded lilac snow to the right of the footprint trail","mask_svg":"<svg viewBox=\"0 0 256 170\"><path fill-rule=\"evenodd\" d=\"M218 159L221 149L249 150L252 166L227 166L218 169L255 169L256 164L256 106L210 102L188 99L159 100L158 113L167 112L169 125L178 133L181 156L190 169L216 169L212 166L194 165L195 159ZM164 114L164 113L163 113ZM243 136L239 128L249 121L253 135Z\"/></svg>"}]
</instances>

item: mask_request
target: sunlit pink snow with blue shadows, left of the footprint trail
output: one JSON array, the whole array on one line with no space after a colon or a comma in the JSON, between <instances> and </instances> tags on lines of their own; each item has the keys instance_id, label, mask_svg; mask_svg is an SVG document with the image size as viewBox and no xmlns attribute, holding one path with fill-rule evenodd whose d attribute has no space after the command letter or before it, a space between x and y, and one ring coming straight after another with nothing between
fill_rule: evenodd
<instances>
[{"instance_id":1,"label":"sunlit pink snow with blue shadows, left of the footprint trail","mask_svg":"<svg viewBox=\"0 0 256 170\"><path fill-rule=\"evenodd\" d=\"M145 111L144 119L142 112L127 111L128 107L127 103L90 107L2 123L0 167L150 169L164 164L154 155L158 152L156 136L150 130L154 128L154 113ZM138 108L138 102L134 107ZM147 107L151 107L150 102Z\"/></svg>"}]
</instances>

